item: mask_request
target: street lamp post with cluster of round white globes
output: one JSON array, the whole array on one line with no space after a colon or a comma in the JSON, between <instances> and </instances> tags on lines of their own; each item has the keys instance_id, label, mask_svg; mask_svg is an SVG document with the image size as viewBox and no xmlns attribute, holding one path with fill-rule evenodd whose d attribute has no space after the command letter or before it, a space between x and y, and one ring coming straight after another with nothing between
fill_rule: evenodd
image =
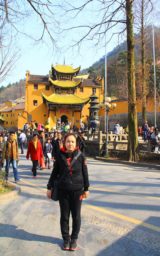
<instances>
[{"instance_id":1,"label":"street lamp post with cluster of round white globes","mask_svg":"<svg viewBox=\"0 0 160 256\"><path fill-rule=\"evenodd\" d=\"M101 108L101 110L105 110L105 112L107 113L106 116L106 143L105 143L105 155L108 154L108 112L110 112L111 110L114 111L114 109L116 108L116 103L112 103L112 108L111 108L111 104L109 104L109 102L111 101L110 97L106 97L105 98L105 102L100 103L99 106ZM105 108L103 108L103 106L105 106ZM103 109L102 109L103 108Z\"/></svg>"}]
</instances>

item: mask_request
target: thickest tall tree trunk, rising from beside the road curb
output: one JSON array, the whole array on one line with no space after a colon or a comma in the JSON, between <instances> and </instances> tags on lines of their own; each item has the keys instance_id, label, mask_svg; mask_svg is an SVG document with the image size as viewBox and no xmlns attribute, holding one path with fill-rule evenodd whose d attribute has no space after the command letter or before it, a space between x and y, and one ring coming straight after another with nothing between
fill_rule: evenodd
<instances>
[{"instance_id":1,"label":"thickest tall tree trunk, rising from beside the road curb","mask_svg":"<svg viewBox=\"0 0 160 256\"><path fill-rule=\"evenodd\" d=\"M132 0L126 0L127 67L128 67L128 146L127 161L138 160L138 131L136 111L135 67Z\"/></svg>"}]
</instances>

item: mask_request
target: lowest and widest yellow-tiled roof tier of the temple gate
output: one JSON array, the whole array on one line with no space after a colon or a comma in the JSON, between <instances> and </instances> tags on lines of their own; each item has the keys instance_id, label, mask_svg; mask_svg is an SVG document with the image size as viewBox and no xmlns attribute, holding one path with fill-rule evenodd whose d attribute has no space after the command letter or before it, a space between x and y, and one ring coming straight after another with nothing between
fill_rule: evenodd
<instances>
[{"instance_id":1,"label":"lowest and widest yellow-tiled roof tier of the temple gate","mask_svg":"<svg viewBox=\"0 0 160 256\"><path fill-rule=\"evenodd\" d=\"M43 98L49 102L60 103L60 104L81 104L81 103L85 103L90 99L90 97L87 97L85 99L81 98L76 94L55 94L55 93L53 93L49 97L43 94Z\"/></svg>"}]
</instances>

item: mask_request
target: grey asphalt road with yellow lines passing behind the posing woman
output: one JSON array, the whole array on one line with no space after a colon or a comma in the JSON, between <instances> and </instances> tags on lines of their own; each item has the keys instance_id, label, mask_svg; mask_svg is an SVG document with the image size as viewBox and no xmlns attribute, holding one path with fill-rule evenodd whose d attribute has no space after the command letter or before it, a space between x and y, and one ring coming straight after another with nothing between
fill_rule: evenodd
<instances>
[{"instance_id":1,"label":"grey asphalt road with yellow lines passing behind the posing woman","mask_svg":"<svg viewBox=\"0 0 160 256\"><path fill-rule=\"evenodd\" d=\"M20 150L19 150L20 151ZM32 162L20 154L19 184L46 191L52 170L37 170L33 178ZM160 171L122 164L110 164L87 158L90 181L85 206L111 218L150 232L160 231ZM52 164L51 164L52 166ZM12 166L10 174L13 175ZM12 178L10 178L12 180Z\"/></svg>"}]
</instances>

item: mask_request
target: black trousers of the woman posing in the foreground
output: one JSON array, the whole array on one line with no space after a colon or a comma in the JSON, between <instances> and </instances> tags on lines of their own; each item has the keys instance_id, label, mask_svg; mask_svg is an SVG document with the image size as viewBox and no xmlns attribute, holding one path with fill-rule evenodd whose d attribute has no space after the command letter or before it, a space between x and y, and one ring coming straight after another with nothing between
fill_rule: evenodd
<instances>
[{"instance_id":1,"label":"black trousers of the woman posing in the foreground","mask_svg":"<svg viewBox=\"0 0 160 256\"><path fill-rule=\"evenodd\" d=\"M81 227L81 204L83 190L67 191L59 189L60 229L63 240L69 240L69 216L72 214L70 238L78 238Z\"/></svg>"}]
</instances>

